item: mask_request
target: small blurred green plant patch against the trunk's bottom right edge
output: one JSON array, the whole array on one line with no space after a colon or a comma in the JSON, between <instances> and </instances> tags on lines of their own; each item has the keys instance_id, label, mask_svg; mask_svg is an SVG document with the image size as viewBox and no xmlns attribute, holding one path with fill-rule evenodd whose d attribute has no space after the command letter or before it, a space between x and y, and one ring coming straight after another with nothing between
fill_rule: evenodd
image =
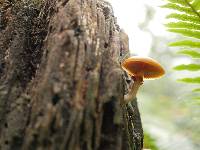
<instances>
[{"instance_id":1,"label":"small blurred green plant patch against the trunk's bottom right edge","mask_svg":"<svg viewBox=\"0 0 200 150\"><path fill-rule=\"evenodd\" d=\"M156 146L155 139L150 134L144 132L144 148L151 150L159 150Z\"/></svg>"}]
</instances>

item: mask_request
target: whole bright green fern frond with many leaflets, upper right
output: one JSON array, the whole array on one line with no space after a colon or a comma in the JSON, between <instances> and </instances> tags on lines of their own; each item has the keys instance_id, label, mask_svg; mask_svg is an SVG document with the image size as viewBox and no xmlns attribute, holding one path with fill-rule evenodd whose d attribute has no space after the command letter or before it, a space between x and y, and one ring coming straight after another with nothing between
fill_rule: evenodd
<instances>
[{"instance_id":1,"label":"whole bright green fern frond with many leaflets, upper right","mask_svg":"<svg viewBox=\"0 0 200 150\"><path fill-rule=\"evenodd\" d=\"M169 32L183 35L181 41L170 43L170 46L183 48L178 54L191 57L194 63L181 64L174 67L177 71L200 71L200 0L167 0L162 8L172 9L166 16L169 23L165 24ZM200 76L178 79L178 81L200 85ZM193 92L200 92L200 88Z\"/></svg>"}]
</instances>

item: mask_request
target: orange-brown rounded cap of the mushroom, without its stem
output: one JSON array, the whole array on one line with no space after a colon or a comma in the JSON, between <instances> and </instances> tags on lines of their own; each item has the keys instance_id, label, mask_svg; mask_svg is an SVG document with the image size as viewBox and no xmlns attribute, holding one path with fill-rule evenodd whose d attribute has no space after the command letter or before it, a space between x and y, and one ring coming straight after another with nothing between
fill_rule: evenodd
<instances>
[{"instance_id":1,"label":"orange-brown rounded cap of the mushroom, without its stem","mask_svg":"<svg viewBox=\"0 0 200 150\"><path fill-rule=\"evenodd\" d=\"M149 57L129 57L122 63L122 68L131 76L141 76L144 79L160 78L165 74L163 67Z\"/></svg>"}]
</instances>

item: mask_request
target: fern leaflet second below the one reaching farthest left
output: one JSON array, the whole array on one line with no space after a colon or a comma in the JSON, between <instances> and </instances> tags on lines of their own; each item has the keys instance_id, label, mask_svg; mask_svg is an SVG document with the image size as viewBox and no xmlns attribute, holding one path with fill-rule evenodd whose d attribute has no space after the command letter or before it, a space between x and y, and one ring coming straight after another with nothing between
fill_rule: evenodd
<instances>
[{"instance_id":1,"label":"fern leaflet second below the one reaching farthest left","mask_svg":"<svg viewBox=\"0 0 200 150\"><path fill-rule=\"evenodd\" d=\"M184 29L192 29L192 30L200 30L200 24L194 24L189 22L170 22L165 24L168 28L184 28Z\"/></svg>"}]
</instances>

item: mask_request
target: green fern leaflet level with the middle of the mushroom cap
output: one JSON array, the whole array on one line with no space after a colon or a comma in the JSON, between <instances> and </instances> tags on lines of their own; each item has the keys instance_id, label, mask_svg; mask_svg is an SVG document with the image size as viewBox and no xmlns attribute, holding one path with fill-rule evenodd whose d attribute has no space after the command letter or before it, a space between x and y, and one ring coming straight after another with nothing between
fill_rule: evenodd
<instances>
[{"instance_id":1,"label":"green fern leaflet level with the middle of the mushroom cap","mask_svg":"<svg viewBox=\"0 0 200 150\"><path fill-rule=\"evenodd\" d=\"M178 65L178 66L174 67L174 69L178 70L178 71L182 71L182 70L199 71L200 64Z\"/></svg>"}]
</instances>

